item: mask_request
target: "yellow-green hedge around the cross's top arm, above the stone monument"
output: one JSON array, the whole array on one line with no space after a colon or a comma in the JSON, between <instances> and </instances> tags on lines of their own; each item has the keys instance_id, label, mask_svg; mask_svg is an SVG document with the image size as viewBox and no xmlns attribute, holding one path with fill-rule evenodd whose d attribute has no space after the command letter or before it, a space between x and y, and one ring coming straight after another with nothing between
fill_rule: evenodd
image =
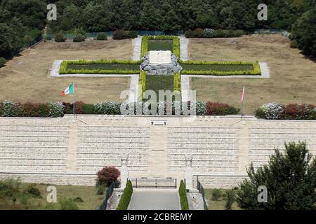
<instances>
[{"instance_id":1,"label":"yellow-green hedge around the cross's top arm, above the stone monument","mask_svg":"<svg viewBox=\"0 0 316 224\"><path fill-rule=\"evenodd\" d=\"M173 54L180 59L180 40L177 36L143 36L142 48L141 48L141 57L145 57L148 52L148 42L149 40L172 40L173 41Z\"/></svg>"}]
</instances>

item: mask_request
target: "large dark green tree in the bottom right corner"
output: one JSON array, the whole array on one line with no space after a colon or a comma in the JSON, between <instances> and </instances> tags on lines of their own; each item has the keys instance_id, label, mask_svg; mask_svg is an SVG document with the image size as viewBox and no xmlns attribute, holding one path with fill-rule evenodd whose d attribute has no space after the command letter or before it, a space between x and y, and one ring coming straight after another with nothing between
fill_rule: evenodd
<instances>
[{"instance_id":1,"label":"large dark green tree in the bottom right corner","mask_svg":"<svg viewBox=\"0 0 316 224\"><path fill-rule=\"evenodd\" d=\"M268 165L257 170L251 164L237 190L237 203L242 209L301 210L315 209L316 160L305 143L285 144L285 154L275 150ZM259 186L268 189L268 203L258 202Z\"/></svg>"}]
</instances>

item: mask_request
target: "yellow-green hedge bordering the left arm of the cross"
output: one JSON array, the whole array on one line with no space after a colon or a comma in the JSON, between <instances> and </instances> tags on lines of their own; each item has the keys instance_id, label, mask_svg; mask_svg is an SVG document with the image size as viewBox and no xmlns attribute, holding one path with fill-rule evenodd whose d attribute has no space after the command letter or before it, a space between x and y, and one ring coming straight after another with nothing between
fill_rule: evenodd
<instances>
[{"instance_id":1,"label":"yellow-green hedge bordering the left arm of the cross","mask_svg":"<svg viewBox=\"0 0 316 224\"><path fill-rule=\"evenodd\" d=\"M140 70L103 70L103 69L68 69L69 64L88 65L88 64L141 64L141 61L130 60L77 60L77 61L63 61L60 65L59 73L64 74L137 74Z\"/></svg>"}]
</instances>

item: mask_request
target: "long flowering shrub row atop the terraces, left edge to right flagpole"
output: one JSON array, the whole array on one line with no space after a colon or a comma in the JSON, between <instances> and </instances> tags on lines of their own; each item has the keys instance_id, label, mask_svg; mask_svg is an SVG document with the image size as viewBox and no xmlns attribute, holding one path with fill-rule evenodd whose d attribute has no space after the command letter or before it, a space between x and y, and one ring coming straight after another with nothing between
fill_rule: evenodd
<instances>
[{"instance_id":1,"label":"long flowering shrub row atop the terraces, left edge to right flagpole","mask_svg":"<svg viewBox=\"0 0 316 224\"><path fill-rule=\"evenodd\" d=\"M121 109L129 114L156 113L159 115L190 115L192 105L190 102L150 102L122 103L122 102L100 102L98 104L84 104L76 102L70 103L51 102L45 104L19 104L10 101L0 102L1 117L37 117L55 118L62 117L64 114L100 114L100 115L122 115ZM74 111L73 111L74 109ZM192 108L193 109L193 108ZM197 102L195 104L197 116L226 116L239 113L239 109L228 104L213 102ZM169 113L171 111L171 113ZM168 113L167 113L168 112ZM124 115L124 114L123 114Z\"/></svg>"}]
</instances>

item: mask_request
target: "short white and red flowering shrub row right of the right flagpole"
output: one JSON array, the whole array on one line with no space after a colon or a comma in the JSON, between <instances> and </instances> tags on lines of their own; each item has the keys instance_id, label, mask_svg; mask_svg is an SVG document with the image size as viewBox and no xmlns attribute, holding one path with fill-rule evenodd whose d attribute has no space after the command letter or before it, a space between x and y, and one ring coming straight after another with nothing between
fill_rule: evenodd
<instances>
[{"instance_id":1,"label":"short white and red flowering shrub row right of the right flagpole","mask_svg":"<svg viewBox=\"0 0 316 224\"><path fill-rule=\"evenodd\" d=\"M256 117L268 120L316 120L316 107L312 104L263 104Z\"/></svg>"}]
</instances>

